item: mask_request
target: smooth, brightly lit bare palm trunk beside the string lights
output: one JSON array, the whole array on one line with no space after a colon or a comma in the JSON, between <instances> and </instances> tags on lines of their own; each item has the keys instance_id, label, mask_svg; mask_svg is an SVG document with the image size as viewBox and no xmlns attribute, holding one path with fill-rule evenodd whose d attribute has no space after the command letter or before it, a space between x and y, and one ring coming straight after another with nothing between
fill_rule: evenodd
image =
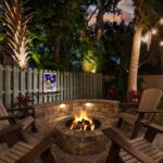
<instances>
[{"instance_id":1,"label":"smooth, brightly lit bare palm trunk beside the string lights","mask_svg":"<svg viewBox=\"0 0 163 163\"><path fill-rule=\"evenodd\" d=\"M141 32L142 32L141 27L137 27L134 34L127 95L131 90L137 90L138 64L139 64L139 54L140 54L140 46L141 46Z\"/></svg>"}]
</instances>

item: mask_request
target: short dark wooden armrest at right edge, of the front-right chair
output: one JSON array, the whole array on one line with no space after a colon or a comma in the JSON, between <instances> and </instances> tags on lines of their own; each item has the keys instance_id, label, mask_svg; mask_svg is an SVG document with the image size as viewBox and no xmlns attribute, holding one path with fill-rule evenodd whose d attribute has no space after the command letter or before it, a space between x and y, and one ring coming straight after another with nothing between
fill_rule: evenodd
<instances>
[{"instance_id":1,"label":"short dark wooden armrest at right edge, of the front-right chair","mask_svg":"<svg viewBox=\"0 0 163 163\"><path fill-rule=\"evenodd\" d=\"M148 127L149 129L154 129L156 130L156 133L161 133L163 134L163 126L159 126L156 124L153 124L149 121L146 121L146 120L141 120L140 121L140 124L145 125L146 127Z\"/></svg>"}]
</instances>

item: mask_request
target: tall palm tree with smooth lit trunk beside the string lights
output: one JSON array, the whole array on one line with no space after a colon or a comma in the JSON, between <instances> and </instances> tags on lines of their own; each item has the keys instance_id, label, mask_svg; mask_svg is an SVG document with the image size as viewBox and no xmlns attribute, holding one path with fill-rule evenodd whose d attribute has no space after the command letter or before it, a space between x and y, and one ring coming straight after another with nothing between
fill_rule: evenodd
<instances>
[{"instance_id":1,"label":"tall palm tree with smooth lit trunk beside the string lights","mask_svg":"<svg viewBox=\"0 0 163 163\"><path fill-rule=\"evenodd\" d=\"M139 55L141 47L141 36L152 28L163 15L162 0L134 0L135 26L133 49L130 55L129 76L127 95L131 90L137 90L137 76L139 67Z\"/></svg>"}]
</instances>

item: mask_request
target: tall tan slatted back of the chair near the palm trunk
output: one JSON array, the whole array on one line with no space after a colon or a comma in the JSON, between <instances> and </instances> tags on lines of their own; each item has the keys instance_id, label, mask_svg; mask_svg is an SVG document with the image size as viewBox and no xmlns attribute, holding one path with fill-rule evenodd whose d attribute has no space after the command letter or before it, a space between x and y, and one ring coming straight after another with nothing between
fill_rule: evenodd
<instances>
[{"instance_id":1,"label":"tall tan slatted back of the chair near the palm trunk","mask_svg":"<svg viewBox=\"0 0 163 163\"><path fill-rule=\"evenodd\" d=\"M141 97L139 111L141 110L154 111L156 109L158 103L160 102L161 97L162 97L161 89L156 89L156 88L146 89ZM149 121L152 121L154 114L146 113L145 117Z\"/></svg>"}]
</instances>

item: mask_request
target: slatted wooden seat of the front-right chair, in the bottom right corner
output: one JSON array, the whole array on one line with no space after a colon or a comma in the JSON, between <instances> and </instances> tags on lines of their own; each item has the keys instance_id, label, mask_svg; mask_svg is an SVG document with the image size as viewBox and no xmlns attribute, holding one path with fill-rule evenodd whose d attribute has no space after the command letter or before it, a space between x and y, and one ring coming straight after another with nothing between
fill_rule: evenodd
<instances>
[{"instance_id":1,"label":"slatted wooden seat of the front-right chair, in the bottom right corner","mask_svg":"<svg viewBox=\"0 0 163 163\"><path fill-rule=\"evenodd\" d=\"M130 140L129 142L133 147L147 154L158 163L163 159L163 152L159 151L155 147L152 146L151 142L149 142L143 137ZM120 156L122 158L124 163L141 163L123 149L121 149Z\"/></svg>"}]
</instances>

